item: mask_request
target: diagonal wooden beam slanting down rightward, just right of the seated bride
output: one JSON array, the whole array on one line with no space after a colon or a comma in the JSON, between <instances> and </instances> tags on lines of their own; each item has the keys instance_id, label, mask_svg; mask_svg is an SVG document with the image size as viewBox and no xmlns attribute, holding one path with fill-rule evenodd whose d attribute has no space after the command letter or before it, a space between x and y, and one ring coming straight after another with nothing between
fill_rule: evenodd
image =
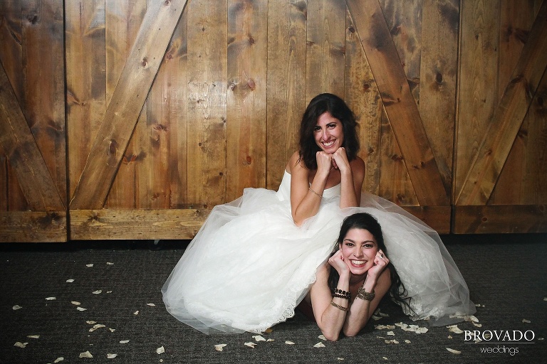
<instances>
[{"instance_id":1,"label":"diagonal wooden beam slanting down rightward, just right of the seated bride","mask_svg":"<svg viewBox=\"0 0 547 364\"><path fill-rule=\"evenodd\" d=\"M420 205L449 205L405 70L377 0L346 0Z\"/></svg>"}]
</instances>

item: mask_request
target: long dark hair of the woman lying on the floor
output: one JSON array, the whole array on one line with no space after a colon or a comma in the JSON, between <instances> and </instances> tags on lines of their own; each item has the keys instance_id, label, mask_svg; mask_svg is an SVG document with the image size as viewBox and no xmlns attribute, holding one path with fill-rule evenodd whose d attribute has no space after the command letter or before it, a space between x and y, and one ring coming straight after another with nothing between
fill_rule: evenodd
<instances>
[{"instance_id":1,"label":"long dark hair of the woman lying on the floor","mask_svg":"<svg viewBox=\"0 0 547 364\"><path fill-rule=\"evenodd\" d=\"M355 213L353 215L349 215L347 218L344 219L342 227L340 228L340 235L338 235L338 240L336 241L336 245L333 249L333 252L330 254L330 257L332 257L335 252L338 252L338 250L340 249L339 245L342 244L345 235L348 235L348 231L350 231L351 229L368 230L376 240L378 250L381 249L385 253L385 255L389 257L387 248L385 247L384 243L384 236L382 235L382 227L380 226L380 223L378 223L376 218L369 213ZM391 298L397 304L405 305L411 312L413 312L412 308L410 307L410 297L407 297L407 289L405 288L405 284L401 282L399 274L397 274L397 270L391 262L387 264L386 268L390 269L391 286L389 291ZM339 279L340 275L338 274L336 269L330 267L330 272L328 274L328 287L330 288L331 292L334 293L334 289L338 286Z\"/></svg>"}]
</instances>

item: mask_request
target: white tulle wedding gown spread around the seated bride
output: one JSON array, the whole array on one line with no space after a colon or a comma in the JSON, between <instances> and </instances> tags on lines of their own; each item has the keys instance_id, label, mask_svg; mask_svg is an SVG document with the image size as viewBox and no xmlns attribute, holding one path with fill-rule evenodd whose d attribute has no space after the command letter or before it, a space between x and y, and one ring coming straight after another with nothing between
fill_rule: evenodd
<instances>
[{"instance_id":1,"label":"white tulle wedding gown spread around the seated bride","mask_svg":"<svg viewBox=\"0 0 547 364\"><path fill-rule=\"evenodd\" d=\"M204 333L261 333L285 321L335 247L343 218L358 212L382 226L387 257L412 297L412 319L440 326L474 314L467 284L432 228L373 195L340 209L340 185L325 190L318 214L298 227L290 187L285 172L277 192L246 188L213 208L162 288L170 314Z\"/></svg>"}]
</instances>

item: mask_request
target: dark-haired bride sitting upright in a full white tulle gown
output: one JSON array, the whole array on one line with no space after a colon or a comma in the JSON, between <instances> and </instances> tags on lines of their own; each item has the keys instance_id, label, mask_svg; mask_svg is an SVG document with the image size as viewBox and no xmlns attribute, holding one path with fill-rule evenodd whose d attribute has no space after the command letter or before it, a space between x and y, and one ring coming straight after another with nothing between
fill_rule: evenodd
<instances>
[{"instance_id":1,"label":"dark-haired bride sitting upright in a full white tulle gown","mask_svg":"<svg viewBox=\"0 0 547 364\"><path fill-rule=\"evenodd\" d=\"M364 211L382 226L410 297L406 314L439 325L473 314L439 235L397 205L361 196L365 163L355 128L343 100L314 97L278 191L246 188L213 208L162 288L167 311L204 333L261 333L285 321L315 282L345 216Z\"/></svg>"}]
</instances>

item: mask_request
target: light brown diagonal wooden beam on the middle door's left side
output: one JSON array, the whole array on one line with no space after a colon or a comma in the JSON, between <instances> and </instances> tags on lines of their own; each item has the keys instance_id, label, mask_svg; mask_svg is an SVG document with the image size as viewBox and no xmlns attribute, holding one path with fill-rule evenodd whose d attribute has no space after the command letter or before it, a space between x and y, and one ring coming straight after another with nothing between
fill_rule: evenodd
<instances>
[{"instance_id":1,"label":"light brown diagonal wooden beam on the middle door's left side","mask_svg":"<svg viewBox=\"0 0 547 364\"><path fill-rule=\"evenodd\" d=\"M71 209L103 208L123 153L187 0L148 1L118 85L71 199Z\"/></svg>"}]
</instances>

